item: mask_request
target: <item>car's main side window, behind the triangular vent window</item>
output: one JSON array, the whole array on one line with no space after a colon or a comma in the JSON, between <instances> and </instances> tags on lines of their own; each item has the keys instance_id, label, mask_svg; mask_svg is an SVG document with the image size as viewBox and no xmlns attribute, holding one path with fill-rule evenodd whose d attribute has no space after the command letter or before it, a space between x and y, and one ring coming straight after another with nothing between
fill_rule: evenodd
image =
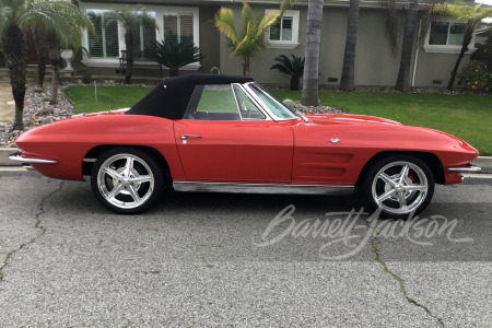
<instances>
[{"instance_id":1,"label":"car's main side window, behind the triangular vent window","mask_svg":"<svg viewBox=\"0 0 492 328\"><path fill-rule=\"evenodd\" d=\"M241 120L231 84L197 85L184 119Z\"/></svg>"}]
</instances>

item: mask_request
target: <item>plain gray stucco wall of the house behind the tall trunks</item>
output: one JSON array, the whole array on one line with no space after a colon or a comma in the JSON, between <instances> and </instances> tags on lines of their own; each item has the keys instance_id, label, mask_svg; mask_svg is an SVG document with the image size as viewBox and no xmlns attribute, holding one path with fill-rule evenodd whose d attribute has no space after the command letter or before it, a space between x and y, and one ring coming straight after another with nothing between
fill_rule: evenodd
<instances>
[{"instance_id":1,"label":"plain gray stucco wall of the house behind the tall trunks","mask_svg":"<svg viewBox=\"0 0 492 328\"><path fill-rule=\"evenodd\" d=\"M241 4L227 3L233 9L236 23L241 17ZM255 4L258 15L265 13L270 5ZM250 75L260 83L289 84L290 77L278 71L270 70L276 62L274 57L283 54L294 54L304 57L307 8L296 7L300 11L300 45L292 50L269 49L251 60ZM347 8L325 8L321 31L321 54L319 65L319 84L339 85L343 65L343 51L347 34ZM358 43L355 55L355 85L358 86L388 86L395 85L398 78L401 57L402 34L405 28L405 13L398 16L398 39L396 51L393 52L388 38L385 35L384 11L382 9L364 8L360 11L358 30ZM410 82L412 80L417 36L412 49L410 67ZM415 86L446 86L450 71L457 59L455 54L429 54L419 47L418 67L415 70ZM469 55L464 62L467 62ZM461 65L462 67L462 65ZM242 74L242 59L231 58L226 47L226 40L220 36L220 68L222 73ZM338 79L337 82L328 82L329 78ZM443 81L442 84L433 84L434 80Z\"/></svg>"}]
</instances>

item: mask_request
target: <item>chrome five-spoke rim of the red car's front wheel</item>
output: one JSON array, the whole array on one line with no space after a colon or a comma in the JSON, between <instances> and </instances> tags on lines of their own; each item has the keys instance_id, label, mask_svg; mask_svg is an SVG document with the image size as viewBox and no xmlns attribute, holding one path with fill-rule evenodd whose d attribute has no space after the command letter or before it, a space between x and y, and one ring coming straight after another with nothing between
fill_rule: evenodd
<instances>
[{"instance_id":1,"label":"chrome five-spoke rim of the red car's front wheel","mask_svg":"<svg viewBox=\"0 0 492 328\"><path fill-rule=\"evenodd\" d=\"M414 211L427 195L429 183L424 172L410 162L394 162L376 174L372 195L386 212L408 214Z\"/></svg>"}]
</instances>

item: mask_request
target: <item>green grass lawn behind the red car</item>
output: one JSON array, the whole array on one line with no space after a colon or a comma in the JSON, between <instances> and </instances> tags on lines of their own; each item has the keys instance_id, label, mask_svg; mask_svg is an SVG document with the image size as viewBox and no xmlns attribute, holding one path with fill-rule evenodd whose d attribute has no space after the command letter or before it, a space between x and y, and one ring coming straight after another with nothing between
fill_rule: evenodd
<instances>
[{"instance_id":1,"label":"green grass lawn behind the red car","mask_svg":"<svg viewBox=\"0 0 492 328\"><path fill-rule=\"evenodd\" d=\"M99 110L130 107L151 90L98 86ZM65 94L73 103L75 114L95 112L93 86L70 86ZM271 94L280 101L301 99L300 92L276 90ZM380 116L406 125L445 131L469 142L482 155L492 155L491 96L321 92L319 98L323 105L352 114Z\"/></svg>"}]
</instances>

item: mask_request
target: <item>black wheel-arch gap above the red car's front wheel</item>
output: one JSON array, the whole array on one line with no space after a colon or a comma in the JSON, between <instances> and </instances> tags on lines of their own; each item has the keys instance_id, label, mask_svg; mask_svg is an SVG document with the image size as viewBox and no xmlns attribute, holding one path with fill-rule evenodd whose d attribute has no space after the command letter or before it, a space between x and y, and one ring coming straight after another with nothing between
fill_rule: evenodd
<instances>
[{"instance_id":1,"label":"black wheel-arch gap above the red car's front wheel","mask_svg":"<svg viewBox=\"0 0 492 328\"><path fill-rule=\"evenodd\" d=\"M444 178L444 168L443 164L441 163L440 159L429 152L411 152L411 151L383 151L374 156L372 156L367 163L365 163L364 167L362 168L361 173L359 174L356 186L360 187L361 179L365 176L367 171L370 169L371 165L380 161L384 157L391 156L391 155L410 155L418 157L419 160L423 161L425 164L429 165L429 168L431 169L434 180L436 184L444 185L445 178Z\"/></svg>"}]
</instances>

